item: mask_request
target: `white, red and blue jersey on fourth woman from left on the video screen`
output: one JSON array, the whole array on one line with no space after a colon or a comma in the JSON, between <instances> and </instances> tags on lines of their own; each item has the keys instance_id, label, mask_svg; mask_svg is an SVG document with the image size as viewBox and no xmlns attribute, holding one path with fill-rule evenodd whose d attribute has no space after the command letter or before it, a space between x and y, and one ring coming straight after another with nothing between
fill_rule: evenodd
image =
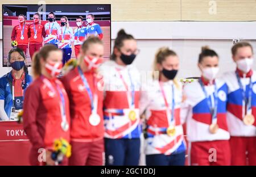
<instances>
[{"instance_id":1,"label":"white, red and blue jersey on fourth woman from left on the video screen","mask_svg":"<svg viewBox=\"0 0 256 177\"><path fill-rule=\"evenodd\" d=\"M73 29L71 27L60 27L60 35L59 35L59 48L71 48L71 43L73 42Z\"/></svg>"}]
</instances>

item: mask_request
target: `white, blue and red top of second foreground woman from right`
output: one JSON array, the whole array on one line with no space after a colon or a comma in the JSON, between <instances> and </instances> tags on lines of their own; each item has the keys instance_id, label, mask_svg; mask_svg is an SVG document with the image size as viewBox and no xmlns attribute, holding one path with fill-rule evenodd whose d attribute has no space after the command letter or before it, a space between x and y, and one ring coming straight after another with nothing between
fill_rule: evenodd
<instances>
[{"instance_id":1,"label":"white, blue and red top of second foreground woman from right","mask_svg":"<svg viewBox=\"0 0 256 177\"><path fill-rule=\"evenodd\" d=\"M190 142L229 140L228 125L226 123L226 101L228 86L220 79L215 80L217 87L217 124L216 133L210 133L212 116L207 98L200 83L192 82L184 87L185 102L181 106L181 119L187 121L187 139ZM214 85L204 85L208 100L214 100Z\"/></svg>"}]
</instances>

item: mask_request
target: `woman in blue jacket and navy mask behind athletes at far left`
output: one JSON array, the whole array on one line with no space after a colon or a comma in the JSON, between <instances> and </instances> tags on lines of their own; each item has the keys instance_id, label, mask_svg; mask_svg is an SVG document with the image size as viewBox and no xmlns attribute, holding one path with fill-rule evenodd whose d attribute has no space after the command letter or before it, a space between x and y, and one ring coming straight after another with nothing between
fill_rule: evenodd
<instances>
[{"instance_id":1,"label":"woman in blue jacket and navy mask behind athletes at far left","mask_svg":"<svg viewBox=\"0 0 256 177\"><path fill-rule=\"evenodd\" d=\"M18 112L23 107L24 90L32 77L28 75L22 49L11 49L8 60L13 69L0 78L0 120L18 120Z\"/></svg>"}]
</instances>

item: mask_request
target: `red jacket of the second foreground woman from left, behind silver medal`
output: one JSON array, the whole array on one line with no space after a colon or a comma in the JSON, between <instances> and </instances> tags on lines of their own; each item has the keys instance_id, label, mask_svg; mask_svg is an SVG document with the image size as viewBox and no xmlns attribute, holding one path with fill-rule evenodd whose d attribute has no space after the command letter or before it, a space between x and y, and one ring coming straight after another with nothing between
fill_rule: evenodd
<instances>
[{"instance_id":1,"label":"red jacket of the second foreground woman from left, behind silver medal","mask_svg":"<svg viewBox=\"0 0 256 177\"><path fill-rule=\"evenodd\" d=\"M79 70L76 67L61 79L70 100L71 141L90 142L104 137L103 91L98 84L100 79L92 72L85 72L84 76L87 79L92 94L97 92L97 113L100 115L101 121L96 126L89 123L89 116L92 113L91 102L84 82L82 82L80 77ZM94 82L97 83L97 88L94 86Z\"/></svg>"}]
</instances>

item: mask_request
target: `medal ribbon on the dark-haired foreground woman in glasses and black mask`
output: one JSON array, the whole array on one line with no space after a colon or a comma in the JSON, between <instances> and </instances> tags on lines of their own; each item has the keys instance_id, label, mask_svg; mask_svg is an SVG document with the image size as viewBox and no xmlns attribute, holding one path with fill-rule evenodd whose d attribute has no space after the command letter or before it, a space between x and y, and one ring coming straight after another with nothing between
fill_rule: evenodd
<instances>
[{"instance_id":1,"label":"medal ribbon on the dark-haired foreground woman in glasses and black mask","mask_svg":"<svg viewBox=\"0 0 256 177\"><path fill-rule=\"evenodd\" d=\"M125 82L125 79L123 79L123 76L120 72L119 69L115 68L117 70L117 73L119 74L119 77L120 79L122 80L123 82L123 85L125 86L126 90L127 90L127 100L128 100L128 103L129 103L129 107L130 108L134 108L134 99L135 99L135 88L134 88L134 84L133 84L133 80L131 79L131 74L128 70L128 75L129 75L129 79L130 79L130 82L131 82L131 93L129 92L129 89L128 89L128 85L127 83Z\"/></svg>"}]
</instances>

